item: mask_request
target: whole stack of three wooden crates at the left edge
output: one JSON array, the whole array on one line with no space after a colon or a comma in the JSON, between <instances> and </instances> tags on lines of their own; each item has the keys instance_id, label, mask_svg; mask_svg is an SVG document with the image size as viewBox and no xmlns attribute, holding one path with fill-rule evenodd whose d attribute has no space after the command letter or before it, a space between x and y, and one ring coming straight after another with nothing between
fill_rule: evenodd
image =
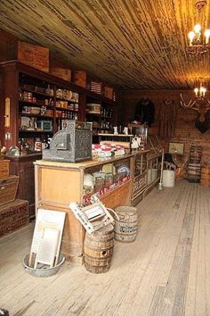
<instances>
[{"instance_id":1,"label":"whole stack of three wooden crates at the left edge","mask_svg":"<svg viewBox=\"0 0 210 316\"><path fill-rule=\"evenodd\" d=\"M9 162L0 161L0 237L28 224L28 201L15 199L19 177L9 175Z\"/></svg>"}]
</instances>

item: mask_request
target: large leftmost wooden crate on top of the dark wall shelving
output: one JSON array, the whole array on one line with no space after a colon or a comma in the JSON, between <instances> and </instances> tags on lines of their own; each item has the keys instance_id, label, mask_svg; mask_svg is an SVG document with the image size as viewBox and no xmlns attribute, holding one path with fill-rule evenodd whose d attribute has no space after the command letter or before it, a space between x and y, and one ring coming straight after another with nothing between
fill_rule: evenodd
<instances>
[{"instance_id":1,"label":"large leftmost wooden crate on top of the dark wall shelving","mask_svg":"<svg viewBox=\"0 0 210 316\"><path fill-rule=\"evenodd\" d=\"M49 49L18 41L18 60L39 71L49 71Z\"/></svg>"}]
</instances>

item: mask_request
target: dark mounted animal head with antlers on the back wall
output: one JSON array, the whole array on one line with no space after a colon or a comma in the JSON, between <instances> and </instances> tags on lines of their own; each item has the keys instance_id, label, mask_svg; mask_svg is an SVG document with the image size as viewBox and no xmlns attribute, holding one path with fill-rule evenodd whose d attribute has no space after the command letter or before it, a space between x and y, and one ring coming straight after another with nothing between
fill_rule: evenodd
<instances>
[{"instance_id":1,"label":"dark mounted animal head with antlers on the back wall","mask_svg":"<svg viewBox=\"0 0 210 316\"><path fill-rule=\"evenodd\" d=\"M210 120L206 115L206 113L210 111L210 101L206 98L196 98L190 100L190 102L187 104L184 101L182 94L180 97L183 108L192 109L198 112L198 117L195 121L195 127L199 129L201 133L205 133L206 130L210 128Z\"/></svg>"}]
</instances>

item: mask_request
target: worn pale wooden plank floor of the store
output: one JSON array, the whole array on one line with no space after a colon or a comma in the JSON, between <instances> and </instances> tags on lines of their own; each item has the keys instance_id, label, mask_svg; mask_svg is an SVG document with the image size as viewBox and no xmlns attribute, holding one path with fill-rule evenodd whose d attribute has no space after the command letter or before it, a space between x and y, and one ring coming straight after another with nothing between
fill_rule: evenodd
<instances>
[{"instance_id":1,"label":"worn pale wooden plank floor of the store","mask_svg":"<svg viewBox=\"0 0 210 316\"><path fill-rule=\"evenodd\" d=\"M138 205L132 244L115 242L111 269L65 262L45 279L28 275L33 225L0 239L0 307L10 315L209 316L210 187L180 180Z\"/></svg>"}]
</instances>

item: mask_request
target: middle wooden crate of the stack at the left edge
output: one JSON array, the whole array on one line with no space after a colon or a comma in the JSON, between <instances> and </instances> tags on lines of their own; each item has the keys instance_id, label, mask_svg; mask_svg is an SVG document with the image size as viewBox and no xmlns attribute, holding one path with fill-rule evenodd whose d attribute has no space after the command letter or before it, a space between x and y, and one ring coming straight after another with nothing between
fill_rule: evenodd
<instances>
[{"instance_id":1,"label":"middle wooden crate of the stack at the left edge","mask_svg":"<svg viewBox=\"0 0 210 316\"><path fill-rule=\"evenodd\" d=\"M0 179L0 205L12 202L15 199L19 184L18 176Z\"/></svg>"}]
</instances>

